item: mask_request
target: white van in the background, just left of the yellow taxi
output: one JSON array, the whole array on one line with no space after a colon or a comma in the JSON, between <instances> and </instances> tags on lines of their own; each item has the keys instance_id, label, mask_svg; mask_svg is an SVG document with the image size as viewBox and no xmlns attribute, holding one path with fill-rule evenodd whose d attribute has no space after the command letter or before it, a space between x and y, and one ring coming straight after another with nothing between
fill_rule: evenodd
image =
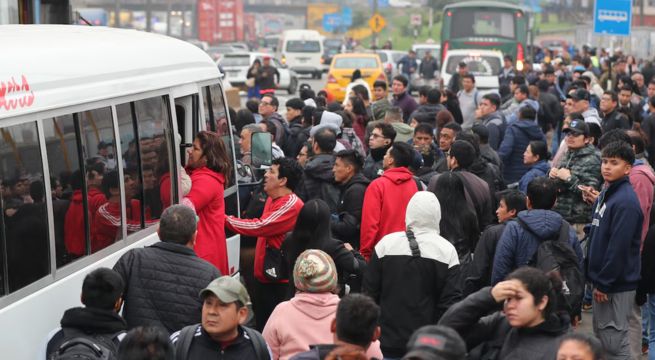
<instances>
[{"instance_id":1,"label":"white van in the background, just left of the yellow taxi","mask_svg":"<svg viewBox=\"0 0 655 360\"><path fill-rule=\"evenodd\" d=\"M278 59L298 74L323 75L323 37L316 30L286 30L280 38Z\"/></svg>"}]
</instances>

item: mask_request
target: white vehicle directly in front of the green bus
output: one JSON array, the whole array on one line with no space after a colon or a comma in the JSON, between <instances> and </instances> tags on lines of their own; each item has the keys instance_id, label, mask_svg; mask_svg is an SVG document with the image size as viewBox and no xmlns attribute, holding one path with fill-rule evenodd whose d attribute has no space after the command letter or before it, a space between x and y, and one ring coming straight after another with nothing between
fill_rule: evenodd
<instances>
[{"instance_id":1,"label":"white vehicle directly in front of the green bus","mask_svg":"<svg viewBox=\"0 0 655 360\"><path fill-rule=\"evenodd\" d=\"M441 66L444 87L457 72L459 63L466 63L475 76L475 86L482 93L498 91L498 75L503 67L503 54L492 50L448 50Z\"/></svg>"}]
</instances>

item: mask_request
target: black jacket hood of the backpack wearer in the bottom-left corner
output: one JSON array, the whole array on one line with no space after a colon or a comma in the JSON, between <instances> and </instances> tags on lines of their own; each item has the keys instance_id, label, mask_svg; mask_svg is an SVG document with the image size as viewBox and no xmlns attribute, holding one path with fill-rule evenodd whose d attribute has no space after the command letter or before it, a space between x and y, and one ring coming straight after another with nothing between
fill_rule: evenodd
<instances>
[{"instance_id":1,"label":"black jacket hood of the backpack wearer in the bottom-left corner","mask_svg":"<svg viewBox=\"0 0 655 360\"><path fill-rule=\"evenodd\" d=\"M75 328L85 333L108 334L127 330L127 323L112 310L77 307L64 312L61 327Z\"/></svg>"}]
</instances>

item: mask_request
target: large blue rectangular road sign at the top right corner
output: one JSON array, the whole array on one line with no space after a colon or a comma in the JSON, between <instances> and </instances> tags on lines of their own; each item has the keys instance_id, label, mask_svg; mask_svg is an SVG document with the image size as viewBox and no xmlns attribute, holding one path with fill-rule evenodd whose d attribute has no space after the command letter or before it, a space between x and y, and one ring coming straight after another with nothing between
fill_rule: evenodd
<instances>
[{"instance_id":1,"label":"large blue rectangular road sign at the top right corner","mask_svg":"<svg viewBox=\"0 0 655 360\"><path fill-rule=\"evenodd\" d=\"M596 0L594 33L630 36L632 0Z\"/></svg>"}]
</instances>

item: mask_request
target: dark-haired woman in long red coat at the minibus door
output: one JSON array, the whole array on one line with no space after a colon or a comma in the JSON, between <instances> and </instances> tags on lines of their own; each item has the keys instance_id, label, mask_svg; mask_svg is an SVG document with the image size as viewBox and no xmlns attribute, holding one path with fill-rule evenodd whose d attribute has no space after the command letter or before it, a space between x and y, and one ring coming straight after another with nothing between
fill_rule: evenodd
<instances>
[{"instance_id":1,"label":"dark-haired woman in long red coat at the minibus door","mask_svg":"<svg viewBox=\"0 0 655 360\"><path fill-rule=\"evenodd\" d=\"M182 203L195 209L199 217L196 254L228 275L225 238L225 200L223 192L229 185L232 164L225 143L218 134L201 131L188 152L187 173L191 176L191 191Z\"/></svg>"}]
</instances>

